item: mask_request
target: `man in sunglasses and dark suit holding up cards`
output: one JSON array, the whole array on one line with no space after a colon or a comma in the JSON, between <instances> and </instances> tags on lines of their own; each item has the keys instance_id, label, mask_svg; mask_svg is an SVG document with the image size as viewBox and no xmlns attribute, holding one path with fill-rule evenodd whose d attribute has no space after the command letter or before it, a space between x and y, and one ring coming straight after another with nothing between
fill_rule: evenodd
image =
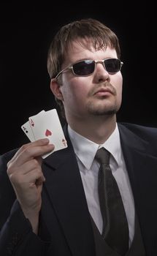
<instances>
[{"instance_id":1,"label":"man in sunglasses and dark suit holding up cards","mask_svg":"<svg viewBox=\"0 0 157 256\"><path fill-rule=\"evenodd\" d=\"M42 161L55 146L43 139L1 156L1 255L157 255L157 129L117 124L122 64L118 38L98 20L74 21L54 37L47 67L68 147ZM110 230L118 216L113 246L102 236L99 148L110 152L123 202L124 213L108 218Z\"/></svg>"}]
</instances>

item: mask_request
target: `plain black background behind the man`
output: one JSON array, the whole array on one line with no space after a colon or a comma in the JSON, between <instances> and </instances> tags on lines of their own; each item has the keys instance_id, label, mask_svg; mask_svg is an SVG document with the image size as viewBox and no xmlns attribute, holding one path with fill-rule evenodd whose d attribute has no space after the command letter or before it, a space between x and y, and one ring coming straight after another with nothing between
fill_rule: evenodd
<instances>
[{"instance_id":1,"label":"plain black background behind the man","mask_svg":"<svg viewBox=\"0 0 157 256\"><path fill-rule=\"evenodd\" d=\"M1 9L0 154L28 142L20 129L28 116L56 108L47 73L47 49L60 26L80 18L99 19L120 40L124 64L118 121L157 127L155 12L153 1L141 5L138 1L85 1L82 5L73 1L43 11Z\"/></svg>"}]
</instances>

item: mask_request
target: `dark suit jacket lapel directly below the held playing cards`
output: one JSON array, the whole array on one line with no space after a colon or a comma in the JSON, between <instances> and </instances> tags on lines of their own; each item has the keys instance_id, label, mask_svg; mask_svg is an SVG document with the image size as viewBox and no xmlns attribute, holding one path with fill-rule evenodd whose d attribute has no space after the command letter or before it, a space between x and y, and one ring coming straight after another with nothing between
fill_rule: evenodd
<instances>
[{"instance_id":1,"label":"dark suit jacket lapel directly below the held playing cards","mask_svg":"<svg viewBox=\"0 0 157 256\"><path fill-rule=\"evenodd\" d=\"M66 139L68 148L54 152L44 161L45 189L73 255L91 256L91 220L74 150L67 135ZM48 227L53 228L50 223Z\"/></svg>"}]
</instances>

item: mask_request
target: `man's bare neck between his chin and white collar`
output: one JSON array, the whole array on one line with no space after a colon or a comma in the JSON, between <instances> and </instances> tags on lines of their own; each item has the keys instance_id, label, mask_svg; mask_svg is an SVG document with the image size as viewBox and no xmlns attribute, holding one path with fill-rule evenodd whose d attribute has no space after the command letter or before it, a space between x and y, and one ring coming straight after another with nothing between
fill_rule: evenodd
<instances>
[{"instance_id":1,"label":"man's bare neck between his chin and white collar","mask_svg":"<svg viewBox=\"0 0 157 256\"><path fill-rule=\"evenodd\" d=\"M69 126L88 140L97 144L104 143L116 126L116 116L92 116L85 120L67 118Z\"/></svg>"}]
</instances>

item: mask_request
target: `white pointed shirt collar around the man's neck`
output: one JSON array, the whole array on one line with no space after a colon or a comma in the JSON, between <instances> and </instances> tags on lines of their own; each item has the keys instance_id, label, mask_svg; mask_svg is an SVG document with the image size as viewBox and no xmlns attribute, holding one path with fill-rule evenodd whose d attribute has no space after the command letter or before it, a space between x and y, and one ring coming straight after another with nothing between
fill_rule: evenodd
<instances>
[{"instance_id":1,"label":"white pointed shirt collar around the man's neck","mask_svg":"<svg viewBox=\"0 0 157 256\"><path fill-rule=\"evenodd\" d=\"M83 137L82 135L74 132L74 130L68 125L69 138L72 141L74 152L85 167L90 170L93 163L93 159L96 155L96 151L99 148L106 148L112 154L117 164L120 162L121 147L120 147L120 135L118 125L116 124L115 130L103 144L99 145L91 140Z\"/></svg>"}]
</instances>

